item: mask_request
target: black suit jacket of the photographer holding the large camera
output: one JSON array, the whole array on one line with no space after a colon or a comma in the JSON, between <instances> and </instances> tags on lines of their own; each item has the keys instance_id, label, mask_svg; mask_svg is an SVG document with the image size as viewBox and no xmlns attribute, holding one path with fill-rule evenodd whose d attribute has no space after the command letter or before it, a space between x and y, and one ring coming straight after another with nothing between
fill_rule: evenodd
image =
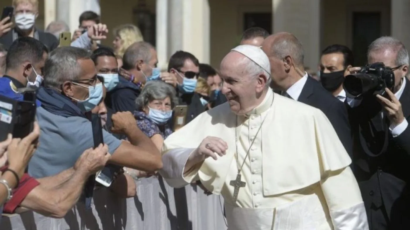
<instances>
[{"instance_id":1,"label":"black suit jacket of the photographer holding the large camera","mask_svg":"<svg viewBox=\"0 0 410 230\"><path fill-rule=\"evenodd\" d=\"M404 79L405 88L399 101L403 115L410 123L410 82L407 78ZM388 130L388 120L386 119L387 124L383 125L380 119L380 111L381 106L373 96L363 99L356 108L349 108L354 137L354 174L362 192L368 217L370 209L381 208L387 215L388 229L407 229L410 225L410 125L403 133L393 138ZM387 149L380 152L386 129ZM363 143L376 154L366 153ZM371 229L378 228L378 223L371 223L370 217L369 225Z\"/></svg>"}]
</instances>

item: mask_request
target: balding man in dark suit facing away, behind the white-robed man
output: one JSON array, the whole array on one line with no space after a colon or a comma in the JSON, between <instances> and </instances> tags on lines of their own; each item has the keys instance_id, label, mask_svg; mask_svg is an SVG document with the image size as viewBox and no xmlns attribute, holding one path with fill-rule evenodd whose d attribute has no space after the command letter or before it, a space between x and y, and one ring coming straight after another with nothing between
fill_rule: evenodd
<instances>
[{"instance_id":1,"label":"balding man in dark suit facing away, behind the white-robed man","mask_svg":"<svg viewBox=\"0 0 410 230\"><path fill-rule=\"evenodd\" d=\"M293 34L277 33L265 38L262 50L271 64L272 87L282 95L320 109L333 125L352 157L352 135L346 106L309 77L303 65L302 44Z\"/></svg>"}]
</instances>

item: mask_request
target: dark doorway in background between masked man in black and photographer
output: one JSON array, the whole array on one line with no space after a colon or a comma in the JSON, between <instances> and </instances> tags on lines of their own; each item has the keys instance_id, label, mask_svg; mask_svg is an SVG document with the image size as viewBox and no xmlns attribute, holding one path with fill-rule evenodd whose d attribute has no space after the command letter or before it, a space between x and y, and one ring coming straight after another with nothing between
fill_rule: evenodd
<instances>
[{"instance_id":1,"label":"dark doorway in background between masked man in black and photographer","mask_svg":"<svg viewBox=\"0 0 410 230\"><path fill-rule=\"evenodd\" d=\"M353 54L355 66L367 64L367 48L380 37L380 12L353 12Z\"/></svg>"}]
</instances>

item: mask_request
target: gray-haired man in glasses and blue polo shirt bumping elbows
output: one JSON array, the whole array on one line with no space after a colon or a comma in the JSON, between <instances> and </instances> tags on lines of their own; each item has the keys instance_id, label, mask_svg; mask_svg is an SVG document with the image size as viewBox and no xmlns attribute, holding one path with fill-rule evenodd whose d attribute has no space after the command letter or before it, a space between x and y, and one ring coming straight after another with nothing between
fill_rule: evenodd
<instances>
[{"instance_id":1,"label":"gray-haired man in glasses and blue polo shirt bumping elbows","mask_svg":"<svg viewBox=\"0 0 410 230\"><path fill-rule=\"evenodd\" d=\"M94 146L87 115L103 100L103 77L97 75L91 53L76 47L59 47L45 63L44 87L37 98L41 108L36 116L41 126L39 148L29 163L29 174L42 178L75 167L81 153ZM111 154L109 163L144 171L162 168L158 149L137 127L130 112L112 116L115 133L127 135L129 142L103 130L103 140Z\"/></svg>"}]
</instances>

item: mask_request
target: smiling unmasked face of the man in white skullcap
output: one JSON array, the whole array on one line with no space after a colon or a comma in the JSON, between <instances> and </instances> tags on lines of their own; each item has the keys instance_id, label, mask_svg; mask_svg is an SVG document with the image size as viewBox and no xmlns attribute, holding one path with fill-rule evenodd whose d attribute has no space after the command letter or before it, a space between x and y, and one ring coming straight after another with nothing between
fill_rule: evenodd
<instances>
[{"instance_id":1,"label":"smiling unmasked face of the man in white skullcap","mask_svg":"<svg viewBox=\"0 0 410 230\"><path fill-rule=\"evenodd\" d=\"M245 64L246 60L246 64ZM250 60L238 52L230 52L221 62L222 93L231 110L244 115L257 106L258 95L264 90L266 76L252 76L246 69Z\"/></svg>"}]
</instances>

